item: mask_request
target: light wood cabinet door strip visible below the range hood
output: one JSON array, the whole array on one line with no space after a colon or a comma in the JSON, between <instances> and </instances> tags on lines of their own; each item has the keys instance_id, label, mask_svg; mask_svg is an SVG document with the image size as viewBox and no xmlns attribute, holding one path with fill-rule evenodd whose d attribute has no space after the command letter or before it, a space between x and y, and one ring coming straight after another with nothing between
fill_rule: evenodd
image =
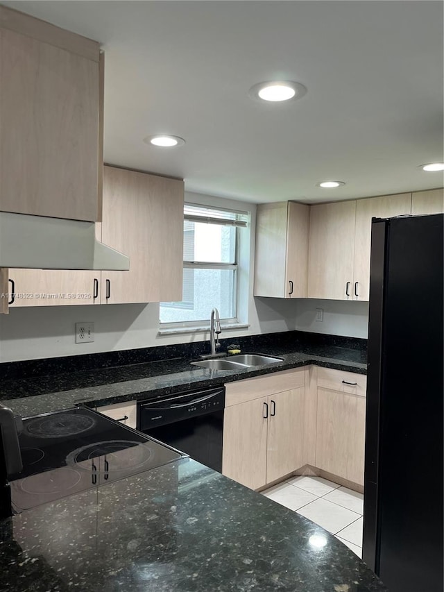
<instances>
[{"instance_id":1,"label":"light wood cabinet door strip visible below the range hood","mask_svg":"<svg viewBox=\"0 0 444 592\"><path fill-rule=\"evenodd\" d=\"M10 269L9 278L14 281L15 291L10 307L99 303L100 274L100 271L77 269Z\"/></svg>"}]
</instances>

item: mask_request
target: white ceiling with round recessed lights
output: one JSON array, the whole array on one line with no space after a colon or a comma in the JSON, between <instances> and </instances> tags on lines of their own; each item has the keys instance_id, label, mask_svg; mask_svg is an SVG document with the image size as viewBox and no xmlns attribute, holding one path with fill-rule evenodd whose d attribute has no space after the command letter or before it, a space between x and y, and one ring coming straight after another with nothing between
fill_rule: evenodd
<instances>
[{"instance_id":1,"label":"white ceiling with round recessed lights","mask_svg":"<svg viewBox=\"0 0 444 592\"><path fill-rule=\"evenodd\" d=\"M418 169L443 160L441 1L3 3L103 44L105 162L256 203L443 186ZM307 94L248 97L273 79ZM186 144L144 144L153 133Z\"/></svg>"}]
</instances>

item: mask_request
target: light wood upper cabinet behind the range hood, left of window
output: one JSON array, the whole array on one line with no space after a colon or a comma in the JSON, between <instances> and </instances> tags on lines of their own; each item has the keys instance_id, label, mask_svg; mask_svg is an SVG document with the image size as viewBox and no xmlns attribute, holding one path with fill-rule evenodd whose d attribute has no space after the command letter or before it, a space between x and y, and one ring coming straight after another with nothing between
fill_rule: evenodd
<instances>
[{"instance_id":1,"label":"light wood upper cabinet behind the range hood, left of window","mask_svg":"<svg viewBox=\"0 0 444 592\"><path fill-rule=\"evenodd\" d=\"M10 307L182 299L183 181L103 169L96 235L130 257L130 271L10 269Z\"/></svg>"}]
</instances>

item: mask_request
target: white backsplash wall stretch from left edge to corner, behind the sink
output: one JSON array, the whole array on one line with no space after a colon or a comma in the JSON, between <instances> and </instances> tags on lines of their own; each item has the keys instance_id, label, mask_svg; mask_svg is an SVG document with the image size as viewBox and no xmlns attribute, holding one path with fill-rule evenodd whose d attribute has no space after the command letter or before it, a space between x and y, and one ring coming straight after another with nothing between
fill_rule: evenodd
<instances>
[{"instance_id":1,"label":"white backsplash wall stretch from left edge to corner, behind the sink","mask_svg":"<svg viewBox=\"0 0 444 592\"><path fill-rule=\"evenodd\" d=\"M275 299L273 299L275 300ZM271 305L273 304L273 306ZM294 329L296 301L250 306L250 327L221 337ZM260 317L259 317L260 315ZM75 343L75 323L94 322L93 343ZM210 324L210 319L208 319ZM114 304L16 308L0 316L0 361L80 355L210 339L209 332L158 335L159 305Z\"/></svg>"}]
</instances>

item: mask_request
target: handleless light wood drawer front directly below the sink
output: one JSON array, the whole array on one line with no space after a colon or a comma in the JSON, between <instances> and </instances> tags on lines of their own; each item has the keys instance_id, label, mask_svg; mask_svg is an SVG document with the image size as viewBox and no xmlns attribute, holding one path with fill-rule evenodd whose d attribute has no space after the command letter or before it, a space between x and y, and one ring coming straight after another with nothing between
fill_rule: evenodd
<instances>
[{"instance_id":1,"label":"handleless light wood drawer front directly below the sink","mask_svg":"<svg viewBox=\"0 0 444 592\"><path fill-rule=\"evenodd\" d=\"M225 407L303 387L306 372L305 368L282 370L265 376L229 382L225 384Z\"/></svg>"}]
</instances>

